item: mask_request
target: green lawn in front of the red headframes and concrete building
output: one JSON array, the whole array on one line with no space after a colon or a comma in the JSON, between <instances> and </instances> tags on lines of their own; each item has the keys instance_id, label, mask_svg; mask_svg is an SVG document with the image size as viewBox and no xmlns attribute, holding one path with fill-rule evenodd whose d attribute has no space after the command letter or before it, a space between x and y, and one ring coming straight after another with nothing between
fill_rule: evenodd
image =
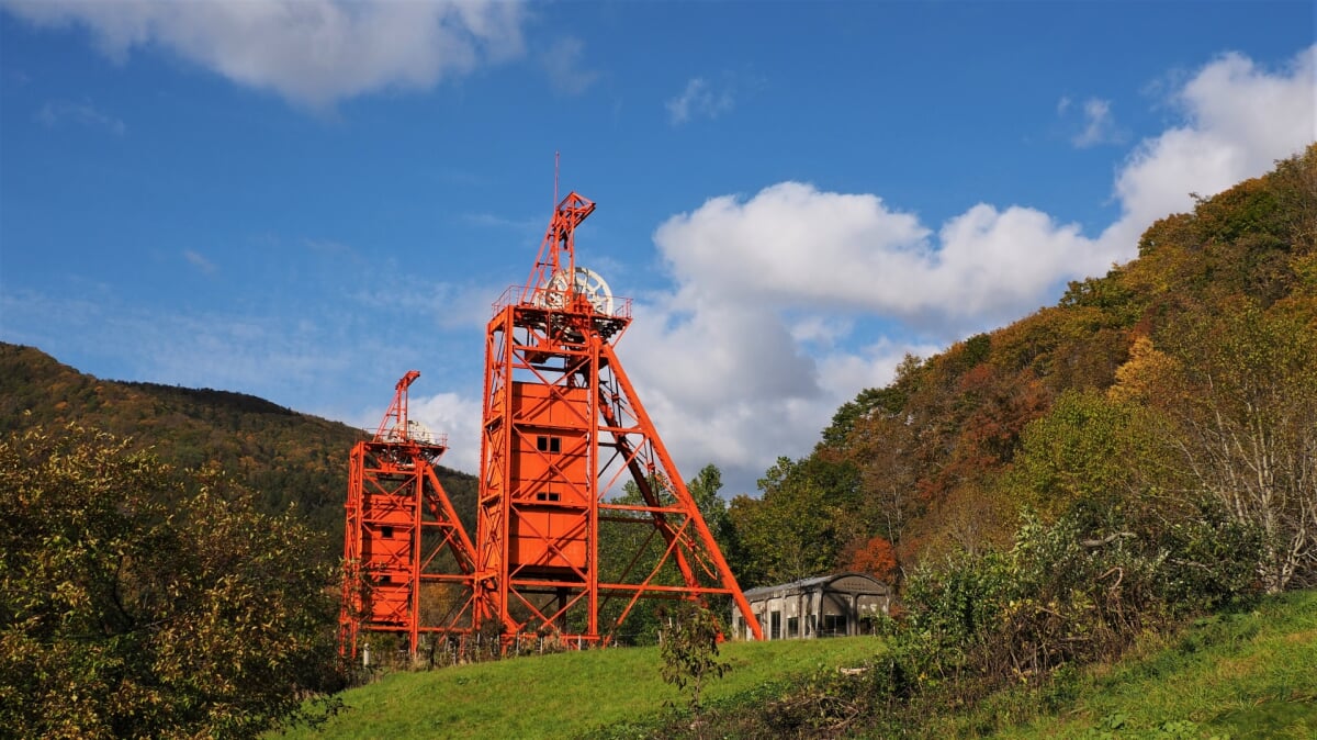
<instances>
[{"instance_id":1,"label":"green lawn in front of the red headframes and concrete building","mask_svg":"<svg viewBox=\"0 0 1317 740\"><path fill-rule=\"evenodd\" d=\"M810 674L860 665L876 637L728 643L727 674L707 700ZM573 737L601 726L656 718L685 703L658 675L658 648L619 648L392 673L342 694L346 710L317 731L282 737ZM275 735L274 737L281 737Z\"/></svg>"}]
</instances>

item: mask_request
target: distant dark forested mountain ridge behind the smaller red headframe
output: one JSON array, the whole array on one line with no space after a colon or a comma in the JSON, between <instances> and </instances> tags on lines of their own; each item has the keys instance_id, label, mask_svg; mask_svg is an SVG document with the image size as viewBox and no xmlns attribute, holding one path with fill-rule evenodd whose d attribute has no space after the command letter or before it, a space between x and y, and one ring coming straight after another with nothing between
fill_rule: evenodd
<instances>
[{"instance_id":1,"label":"distant dark forested mountain ridge behind the smaller red headframe","mask_svg":"<svg viewBox=\"0 0 1317 740\"><path fill-rule=\"evenodd\" d=\"M340 554L348 456L366 437L361 429L248 394L104 381L37 348L0 342L0 432L68 423L132 437L179 467L219 463L259 494L263 510L295 504L324 532L325 557ZM473 528L477 479L446 467L439 477Z\"/></svg>"}]
</instances>

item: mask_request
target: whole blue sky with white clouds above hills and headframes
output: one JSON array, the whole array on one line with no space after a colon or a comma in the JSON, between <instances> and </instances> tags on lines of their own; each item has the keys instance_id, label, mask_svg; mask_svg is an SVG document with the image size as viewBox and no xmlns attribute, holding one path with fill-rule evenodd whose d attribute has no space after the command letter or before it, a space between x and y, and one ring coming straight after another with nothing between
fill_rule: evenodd
<instances>
[{"instance_id":1,"label":"whole blue sky with white clouds above hills and headframes","mask_svg":"<svg viewBox=\"0 0 1317 740\"><path fill-rule=\"evenodd\" d=\"M0 0L0 340L412 415L474 471L561 192L690 477L1134 257L1317 140L1312 3Z\"/></svg>"}]
</instances>

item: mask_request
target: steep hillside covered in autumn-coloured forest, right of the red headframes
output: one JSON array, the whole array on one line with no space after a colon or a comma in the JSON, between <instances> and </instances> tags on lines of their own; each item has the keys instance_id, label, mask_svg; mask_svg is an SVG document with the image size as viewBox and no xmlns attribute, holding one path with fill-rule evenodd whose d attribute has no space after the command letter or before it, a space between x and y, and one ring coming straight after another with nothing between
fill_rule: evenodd
<instances>
[{"instance_id":1,"label":"steep hillside covered in autumn-coloured forest, right of the red headframes","mask_svg":"<svg viewBox=\"0 0 1317 740\"><path fill-rule=\"evenodd\" d=\"M1139 257L842 406L730 515L743 586L1008 544L1027 506L1094 537L1147 502L1256 525L1317 578L1317 146L1154 224ZM1172 500L1173 499L1173 500ZM1183 510L1183 511L1180 511ZM1141 515L1141 516L1142 516Z\"/></svg>"}]
</instances>

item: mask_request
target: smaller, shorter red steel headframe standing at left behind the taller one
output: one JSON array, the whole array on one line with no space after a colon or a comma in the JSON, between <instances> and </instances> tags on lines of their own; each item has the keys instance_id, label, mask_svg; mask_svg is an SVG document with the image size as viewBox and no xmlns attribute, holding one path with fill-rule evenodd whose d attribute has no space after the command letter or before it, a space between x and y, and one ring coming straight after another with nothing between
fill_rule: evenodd
<instances>
[{"instance_id":1,"label":"smaller, shorter red steel headframe standing at left behind the taller one","mask_svg":"<svg viewBox=\"0 0 1317 740\"><path fill-rule=\"evenodd\" d=\"M475 625L471 540L435 474L448 449L407 417L398 381L379 429L352 448L344 527L338 650L357 654L360 631L406 636L411 653L423 632L468 633Z\"/></svg>"}]
</instances>

